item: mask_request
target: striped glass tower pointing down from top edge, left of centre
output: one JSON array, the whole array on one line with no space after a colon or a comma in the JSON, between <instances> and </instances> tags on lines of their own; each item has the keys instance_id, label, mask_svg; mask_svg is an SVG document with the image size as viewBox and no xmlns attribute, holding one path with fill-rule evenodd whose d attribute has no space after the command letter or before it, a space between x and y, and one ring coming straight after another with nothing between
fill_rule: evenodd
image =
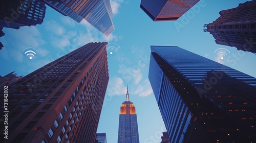
<instances>
[{"instance_id":1,"label":"striped glass tower pointing down from top edge, left of centre","mask_svg":"<svg viewBox=\"0 0 256 143\"><path fill-rule=\"evenodd\" d=\"M83 18L100 32L108 36L113 30L113 14L110 0L70 1L70 0L40 0L59 13L69 16L77 22Z\"/></svg>"}]
</instances>

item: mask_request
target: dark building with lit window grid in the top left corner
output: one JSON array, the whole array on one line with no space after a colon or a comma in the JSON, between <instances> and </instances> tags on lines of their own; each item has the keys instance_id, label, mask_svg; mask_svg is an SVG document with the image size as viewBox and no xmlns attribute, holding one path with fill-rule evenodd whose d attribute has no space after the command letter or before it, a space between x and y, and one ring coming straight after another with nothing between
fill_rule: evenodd
<instances>
[{"instance_id":1,"label":"dark building with lit window grid in the top left corner","mask_svg":"<svg viewBox=\"0 0 256 143\"><path fill-rule=\"evenodd\" d=\"M46 6L38 0L0 1L0 26L19 29L40 25L45 18Z\"/></svg>"}]
</instances>

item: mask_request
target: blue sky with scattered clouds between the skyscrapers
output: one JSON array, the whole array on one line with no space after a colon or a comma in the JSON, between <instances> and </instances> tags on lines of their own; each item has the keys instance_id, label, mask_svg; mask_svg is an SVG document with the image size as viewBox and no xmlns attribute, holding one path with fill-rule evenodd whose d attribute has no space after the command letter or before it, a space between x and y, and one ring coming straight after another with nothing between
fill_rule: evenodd
<instances>
[{"instance_id":1,"label":"blue sky with scattered clouds between the skyscrapers","mask_svg":"<svg viewBox=\"0 0 256 143\"><path fill-rule=\"evenodd\" d=\"M218 45L212 35L203 32L203 25L216 20L219 11L244 2L201 0L177 21L153 22L139 8L140 1L112 0L115 30L108 37L85 20L77 23L47 7L41 25L19 30L4 28L6 35L0 38L4 44L0 51L0 75L16 70L18 75L25 76L88 42L109 42L110 80L98 132L105 132L108 142L117 142L120 106L125 101L128 84L130 101L137 111L140 142L160 142L165 127L148 82L150 45L179 46L256 77L256 67L251 66L256 55L237 51L236 47ZM32 60L22 52L27 47L38 51ZM226 50L215 52L219 48L230 53ZM225 52L227 56L221 60L217 55L219 52Z\"/></svg>"}]
</instances>

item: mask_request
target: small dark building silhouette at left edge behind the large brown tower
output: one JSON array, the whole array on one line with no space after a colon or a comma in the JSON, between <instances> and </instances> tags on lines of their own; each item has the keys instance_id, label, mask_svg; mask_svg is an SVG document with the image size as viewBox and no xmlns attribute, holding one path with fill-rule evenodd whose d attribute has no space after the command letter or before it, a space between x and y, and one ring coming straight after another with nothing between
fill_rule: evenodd
<instances>
[{"instance_id":1,"label":"small dark building silhouette at left edge behind the large brown tower","mask_svg":"<svg viewBox=\"0 0 256 143\"><path fill-rule=\"evenodd\" d=\"M9 85L19 79L21 79L23 76L17 76L15 71L12 71L11 73L5 75L4 77L0 76L0 87Z\"/></svg>"}]
</instances>

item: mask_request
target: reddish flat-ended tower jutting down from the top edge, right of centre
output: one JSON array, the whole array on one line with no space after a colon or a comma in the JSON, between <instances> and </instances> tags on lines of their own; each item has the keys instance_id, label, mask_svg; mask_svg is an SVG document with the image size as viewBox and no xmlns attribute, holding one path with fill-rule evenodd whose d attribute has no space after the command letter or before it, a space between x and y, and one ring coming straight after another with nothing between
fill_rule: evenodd
<instances>
[{"instance_id":1,"label":"reddish flat-ended tower jutting down from the top edge, right of centre","mask_svg":"<svg viewBox=\"0 0 256 143\"><path fill-rule=\"evenodd\" d=\"M153 21L177 20L199 0L141 0L140 8Z\"/></svg>"}]
</instances>

